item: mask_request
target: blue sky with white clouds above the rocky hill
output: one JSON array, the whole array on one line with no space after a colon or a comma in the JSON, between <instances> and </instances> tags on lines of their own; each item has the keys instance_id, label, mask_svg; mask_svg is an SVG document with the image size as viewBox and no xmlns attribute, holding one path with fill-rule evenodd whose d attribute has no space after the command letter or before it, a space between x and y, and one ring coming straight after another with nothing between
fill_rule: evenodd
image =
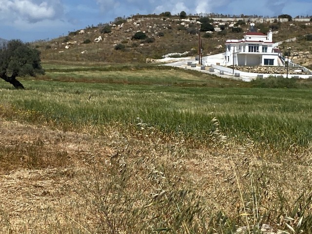
<instances>
[{"instance_id":1,"label":"blue sky with white clouds above the rocky hill","mask_svg":"<svg viewBox=\"0 0 312 234\"><path fill-rule=\"evenodd\" d=\"M0 38L54 39L137 14L312 15L312 0L0 0Z\"/></svg>"}]
</instances>

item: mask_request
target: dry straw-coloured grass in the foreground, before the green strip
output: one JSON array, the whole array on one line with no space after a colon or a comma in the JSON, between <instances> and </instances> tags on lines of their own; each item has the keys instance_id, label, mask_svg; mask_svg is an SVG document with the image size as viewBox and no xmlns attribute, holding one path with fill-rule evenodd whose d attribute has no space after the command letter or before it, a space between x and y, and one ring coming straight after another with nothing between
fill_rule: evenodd
<instances>
[{"instance_id":1,"label":"dry straw-coloured grass in the foreground, before the green strip","mask_svg":"<svg viewBox=\"0 0 312 234\"><path fill-rule=\"evenodd\" d=\"M2 119L1 233L309 233L311 149L274 163L214 123L215 145L189 148L144 125L95 137Z\"/></svg>"}]
</instances>

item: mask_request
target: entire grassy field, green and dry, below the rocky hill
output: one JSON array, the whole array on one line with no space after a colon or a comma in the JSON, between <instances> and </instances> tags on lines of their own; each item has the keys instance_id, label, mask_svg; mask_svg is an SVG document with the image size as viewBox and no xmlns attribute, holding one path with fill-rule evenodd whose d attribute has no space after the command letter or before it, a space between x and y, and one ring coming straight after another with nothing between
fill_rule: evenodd
<instances>
[{"instance_id":1,"label":"entire grassy field, green and dry, below the rocky hill","mask_svg":"<svg viewBox=\"0 0 312 234\"><path fill-rule=\"evenodd\" d=\"M0 83L0 230L311 233L310 80L80 65Z\"/></svg>"}]
</instances>

